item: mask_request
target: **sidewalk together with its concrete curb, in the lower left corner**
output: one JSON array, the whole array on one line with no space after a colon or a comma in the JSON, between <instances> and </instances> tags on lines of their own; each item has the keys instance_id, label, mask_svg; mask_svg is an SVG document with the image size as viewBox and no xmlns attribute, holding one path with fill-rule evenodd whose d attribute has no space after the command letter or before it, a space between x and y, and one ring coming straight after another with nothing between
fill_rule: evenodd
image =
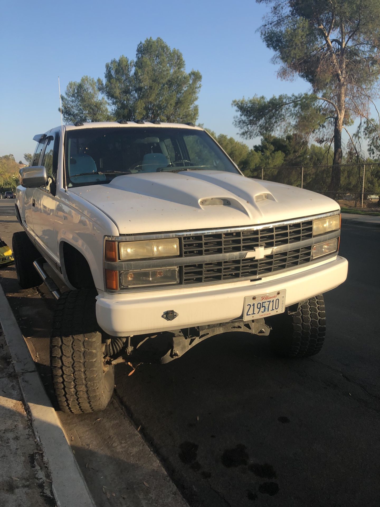
<instances>
[{"instance_id":1,"label":"sidewalk together with its concrete curb, in the lower left corner","mask_svg":"<svg viewBox=\"0 0 380 507\"><path fill-rule=\"evenodd\" d=\"M94 507L0 285L0 505Z\"/></svg>"}]
</instances>

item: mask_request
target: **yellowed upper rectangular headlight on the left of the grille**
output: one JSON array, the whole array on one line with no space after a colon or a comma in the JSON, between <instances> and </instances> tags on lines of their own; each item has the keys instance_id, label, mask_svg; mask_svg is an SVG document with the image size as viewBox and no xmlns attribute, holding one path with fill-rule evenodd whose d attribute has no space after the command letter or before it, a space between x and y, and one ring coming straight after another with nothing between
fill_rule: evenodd
<instances>
[{"instance_id":1,"label":"yellowed upper rectangular headlight on the left of the grille","mask_svg":"<svg viewBox=\"0 0 380 507\"><path fill-rule=\"evenodd\" d=\"M173 257L177 255L179 255L178 238L124 241L119 243L119 258L121 261Z\"/></svg>"}]
</instances>

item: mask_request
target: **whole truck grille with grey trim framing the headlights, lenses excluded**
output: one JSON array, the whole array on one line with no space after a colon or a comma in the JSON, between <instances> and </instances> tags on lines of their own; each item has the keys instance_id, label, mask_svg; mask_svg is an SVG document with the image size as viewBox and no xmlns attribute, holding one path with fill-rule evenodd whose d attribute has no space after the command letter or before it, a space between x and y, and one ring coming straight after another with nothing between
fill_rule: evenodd
<instances>
[{"instance_id":1,"label":"whole truck grille with grey trim framing the headlights, lenses excluded","mask_svg":"<svg viewBox=\"0 0 380 507\"><path fill-rule=\"evenodd\" d=\"M277 273L286 273L298 267L314 265L337 255L337 251L324 258L312 260L311 251L315 243L340 236L340 229L313 237L313 220L339 214L339 210L310 215L293 220L224 229L177 231L165 233L105 236L106 240L134 241L177 237L180 256L137 261L104 262L104 269L124 271L132 269L155 269L179 266L180 283L176 287L213 285L226 282L258 281ZM202 236L202 247L191 250L189 243L195 236ZM187 239L189 238L189 239ZM206 240L206 247L205 247ZM255 248L265 249L263 259L252 257ZM202 250L202 255L198 255ZM206 253L204 253L206 250ZM192 252L193 253L188 253ZM250 253L248 253L250 252ZM248 257L247 257L248 255ZM171 286L133 287L107 292L146 292L173 289Z\"/></svg>"}]
</instances>

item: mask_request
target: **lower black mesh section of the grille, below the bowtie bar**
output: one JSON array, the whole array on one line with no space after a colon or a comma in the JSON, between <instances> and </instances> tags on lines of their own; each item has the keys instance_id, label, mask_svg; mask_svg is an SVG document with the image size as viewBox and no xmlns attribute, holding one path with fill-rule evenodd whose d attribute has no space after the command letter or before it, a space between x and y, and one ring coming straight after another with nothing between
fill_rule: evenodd
<instances>
[{"instance_id":1,"label":"lower black mesh section of the grille, below the bowtie bar","mask_svg":"<svg viewBox=\"0 0 380 507\"><path fill-rule=\"evenodd\" d=\"M238 259L188 264L182 267L182 283L210 283L232 281L239 278L257 278L306 264L311 261L311 255L312 247L305 246L295 250L275 253L260 260Z\"/></svg>"}]
</instances>

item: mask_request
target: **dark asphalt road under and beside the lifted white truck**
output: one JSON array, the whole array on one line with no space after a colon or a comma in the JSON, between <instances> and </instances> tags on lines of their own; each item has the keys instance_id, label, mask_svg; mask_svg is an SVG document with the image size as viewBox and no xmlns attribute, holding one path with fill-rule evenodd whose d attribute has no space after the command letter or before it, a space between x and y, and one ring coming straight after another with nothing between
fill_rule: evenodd
<instances>
[{"instance_id":1,"label":"dark asphalt road under and beside the lifted white truck","mask_svg":"<svg viewBox=\"0 0 380 507\"><path fill-rule=\"evenodd\" d=\"M0 201L6 241L19 230L8 214L13 201ZM343 226L349 276L325 295L327 338L314 357L280 359L267 339L229 333L130 377L117 366L104 412L61 417L91 491L100 477L116 488L128 476L132 420L191 507L378 505L379 240L378 227ZM54 300L44 286L21 291L13 267L0 277L49 390Z\"/></svg>"}]
</instances>

